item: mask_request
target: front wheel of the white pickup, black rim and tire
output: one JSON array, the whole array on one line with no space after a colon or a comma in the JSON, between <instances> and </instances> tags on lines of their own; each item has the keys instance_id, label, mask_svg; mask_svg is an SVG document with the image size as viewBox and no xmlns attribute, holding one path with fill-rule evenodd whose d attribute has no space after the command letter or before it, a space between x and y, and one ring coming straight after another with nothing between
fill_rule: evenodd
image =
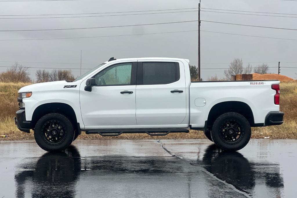
<instances>
[{"instance_id":1,"label":"front wheel of the white pickup, black rim and tire","mask_svg":"<svg viewBox=\"0 0 297 198\"><path fill-rule=\"evenodd\" d=\"M37 121L34 137L43 150L61 151L72 143L74 129L67 117L58 113L50 113Z\"/></svg>"}]
</instances>

